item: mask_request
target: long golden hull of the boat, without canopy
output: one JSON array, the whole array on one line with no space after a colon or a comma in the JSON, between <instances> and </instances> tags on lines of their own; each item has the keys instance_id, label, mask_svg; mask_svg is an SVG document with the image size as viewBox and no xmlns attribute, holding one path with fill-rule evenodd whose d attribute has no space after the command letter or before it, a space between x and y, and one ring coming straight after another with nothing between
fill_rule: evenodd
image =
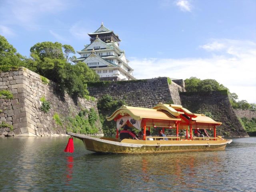
<instances>
[{"instance_id":1,"label":"long golden hull of the boat, without canopy","mask_svg":"<svg viewBox=\"0 0 256 192\"><path fill-rule=\"evenodd\" d=\"M117 154L154 154L173 152L196 152L224 150L232 140L131 140L118 142L115 139L101 139L68 133L81 139L87 150Z\"/></svg>"}]
</instances>

